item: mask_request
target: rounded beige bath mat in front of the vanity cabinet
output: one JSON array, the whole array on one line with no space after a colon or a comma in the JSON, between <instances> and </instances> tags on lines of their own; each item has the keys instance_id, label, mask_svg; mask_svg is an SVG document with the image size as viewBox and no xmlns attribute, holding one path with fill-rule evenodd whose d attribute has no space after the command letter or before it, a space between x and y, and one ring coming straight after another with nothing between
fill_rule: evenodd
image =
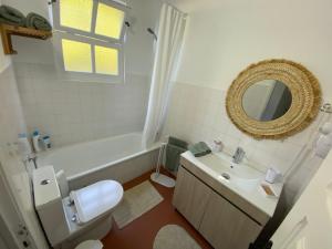
<instances>
[{"instance_id":1,"label":"rounded beige bath mat in front of the vanity cabinet","mask_svg":"<svg viewBox=\"0 0 332 249\"><path fill-rule=\"evenodd\" d=\"M158 231L154 249L201 249L201 247L184 228L177 225L167 225Z\"/></svg>"}]
</instances>

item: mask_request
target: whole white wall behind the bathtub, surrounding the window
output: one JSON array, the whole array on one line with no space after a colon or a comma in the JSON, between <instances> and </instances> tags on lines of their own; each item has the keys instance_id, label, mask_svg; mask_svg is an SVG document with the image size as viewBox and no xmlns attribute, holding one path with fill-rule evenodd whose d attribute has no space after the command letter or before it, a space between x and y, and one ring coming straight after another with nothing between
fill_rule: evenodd
<instances>
[{"instance_id":1,"label":"whole white wall behind the bathtub, surrounding the window","mask_svg":"<svg viewBox=\"0 0 332 249\"><path fill-rule=\"evenodd\" d=\"M48 1L8 1L24 13L46 15ZM142 132L153 61L153 38L146 32L157 22L159 2L129 1L132 23L125 45L123 84L65 81L56 72L52 41L13 40L15 76L28 131L50 134L54 146Z\"/></svg>"}]
</instances>

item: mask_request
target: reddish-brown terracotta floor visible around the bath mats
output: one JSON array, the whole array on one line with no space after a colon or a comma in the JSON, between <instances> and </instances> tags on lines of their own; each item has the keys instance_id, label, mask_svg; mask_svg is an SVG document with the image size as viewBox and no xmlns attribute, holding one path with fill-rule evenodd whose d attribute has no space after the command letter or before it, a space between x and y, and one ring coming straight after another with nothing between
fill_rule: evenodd
<instances>
[{"instance_id":1,"label":"reddish-brown terracotta floor visible around the bath mats","mask_svg":"<svg viewBox=\"0 0 332 249\"><path fill-rule=\"evenodd\" d=\"M149 179L149 175L151 173L147 173L126 183L124 189L128 189ZM168 224L176 224L183 227L203 249L212 248L195 228L174 209L172 205L174 188L169 189L153 181L152 184L164 197L164 200L122 230L117 228L114 221L112 231L102 240L104 249L152 249L158 230Z\"/></svg>"}]
</instances>

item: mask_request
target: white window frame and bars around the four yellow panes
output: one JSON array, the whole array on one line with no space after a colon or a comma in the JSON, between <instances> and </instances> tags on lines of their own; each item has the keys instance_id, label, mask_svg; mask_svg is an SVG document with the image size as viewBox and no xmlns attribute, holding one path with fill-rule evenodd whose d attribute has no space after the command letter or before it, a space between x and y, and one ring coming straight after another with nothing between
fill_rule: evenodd
<instances>
[{"instance_id":1,"label":"white window frame and bars around the four yellow panes","mask_svg":"<svg viewBox=\"0 0 332 249\"><path fill-rule=\"evenodd\" d=\"M117 2L116 0L92 0L92 21L91 21L91 32L76 30L69 27L63 27L60 23L60 1L58 0L52 4L51 19L53 21L53 45L55 48L55 64L59 74L64 75L68 81L83 81L83 82L102 82L102 83L123 83L125 77L125 59L124 59L124 40L125 40L125 20L127 15L127 6L125 3ZM120 39L114 39L95 33L95 24L97 18L97 7L98 3L104 3L110 7L116 8L124 12L124 20L122 23L122 31ZM91 60L92 60L92 73L89 72L74 72L66 71L63 60L62 51L62 39L73 40L77 42L84 42L91 44ZM95 55L94 46L101 45L105 48L116 49L118 51L118 75L102 74L95 72Z\"/></svg>"}]
</instances>

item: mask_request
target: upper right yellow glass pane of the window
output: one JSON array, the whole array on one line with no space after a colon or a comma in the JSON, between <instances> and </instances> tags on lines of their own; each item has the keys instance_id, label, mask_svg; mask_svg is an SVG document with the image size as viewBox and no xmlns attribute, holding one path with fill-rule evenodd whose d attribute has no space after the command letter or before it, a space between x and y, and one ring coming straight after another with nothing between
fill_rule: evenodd
<instances>
[{"instance_id":1,"label":"upper right yellow glass pane of the window","mask_svg":"<svg viewBox=\"0 0 332 249\"><path fill-rule=\"evenodd\" d=\"M108 38L120 39L124 12L104 3L98 3L95 33Z\"/></svg>"}]
</instances>

